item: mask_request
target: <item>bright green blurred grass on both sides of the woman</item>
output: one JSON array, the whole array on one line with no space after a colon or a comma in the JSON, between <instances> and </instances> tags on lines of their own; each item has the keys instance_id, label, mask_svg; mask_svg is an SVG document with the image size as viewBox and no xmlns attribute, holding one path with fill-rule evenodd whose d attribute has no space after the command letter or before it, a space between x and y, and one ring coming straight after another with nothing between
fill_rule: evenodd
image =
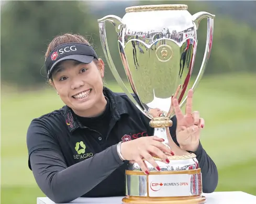
<instances>
[{"instance_id":1,"label":"bright green blurred grass on both sides of the woman","mask_svg":"<svg viewBox=\"0 0 256 204\"><path fill-rule=\"evenodd\" d=\"M201 141L219 171L217 191L256 195L256 75L203 77L194 110L205 119ZM108 83L114 91L121 89ZM54 90L2 92L1 203L36 203L44 196L27 165L26 132L30 121L63 103Z\"/></svg>"}]
</instances>

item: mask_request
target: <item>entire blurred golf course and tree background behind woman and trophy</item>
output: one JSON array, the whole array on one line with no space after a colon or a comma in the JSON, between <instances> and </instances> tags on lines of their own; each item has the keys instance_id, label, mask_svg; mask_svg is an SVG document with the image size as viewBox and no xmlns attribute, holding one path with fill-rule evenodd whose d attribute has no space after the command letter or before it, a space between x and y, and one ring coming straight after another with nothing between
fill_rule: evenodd
<instances>
[{"instance_id":1,"label":"entire blurred golf course and tree background behind woman and trophy","mask_svg":"<svg viewBox=\"0 0 256 204\"><path fill-rule=\"evenodd\" d=\"M64 105L44 77L44 52L49 41L60 33L80 33L106 63L98 18L108 14L122 17L125 8L132 5L177 3L95 2L1 2L2 204L34 204L37 197L45 196L28 168L26 133L32 119ZM216 2L179 2L187 4L191 14L203 10L216 14L212 54L195 90L193 110L205 119L201 142L218 168L216 191L244 191L256 196L255 2ZM112 25L106 29L110 52L125 80L115 31ZM203 59L206 20L199 30L195 72ZM107 65L104 81L113 91L122 92Z\"/></svg>"}]
</instances>

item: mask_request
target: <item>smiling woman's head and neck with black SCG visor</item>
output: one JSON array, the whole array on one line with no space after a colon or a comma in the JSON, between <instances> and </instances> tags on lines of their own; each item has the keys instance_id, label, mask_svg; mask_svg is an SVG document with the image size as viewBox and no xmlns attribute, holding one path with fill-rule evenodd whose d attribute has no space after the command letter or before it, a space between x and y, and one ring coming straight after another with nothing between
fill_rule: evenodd
<instances>
[{"instance_id":1,"label":"smiling woman's head and neck with black SCG visor","mask_svg":"<svg viewBox=\"0 0 256 204\"><path fill-rule=\"evenodd\" d=\"M70 34L55 38L46 52L46 69L50 84L75 114L93 117L103 112L104 62L87 40Z\"/></svg>"}]
</instances>

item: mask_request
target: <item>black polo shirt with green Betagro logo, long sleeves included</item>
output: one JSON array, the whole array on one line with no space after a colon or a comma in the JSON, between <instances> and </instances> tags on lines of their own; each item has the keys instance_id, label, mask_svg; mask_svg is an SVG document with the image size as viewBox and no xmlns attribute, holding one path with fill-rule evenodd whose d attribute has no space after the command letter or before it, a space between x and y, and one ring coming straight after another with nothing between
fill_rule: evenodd
<instances>
[{"instance_id":1,"label":"black polo shirt with green Betagro logo, long sleeves included","mask_svg":"<svg viewBox=\"0 0 256 204\"><path fill-rule=\"evenodd\" d=\"M69 202L81 196L124 196L128 161L120 160L116 145L153 135L150 119L125 94L105 87L103 93L107 106L97 118L81 118L64 106L32 120L28 128L29 168L41 190L54 202ZM176 142L176 118L172 120L170 132ZM201 158L207 162L205 170L201 167L202 179L213 175L216 179L216 166L202 145L196 155L199 165L205 165ZM208 182L206 187L215 189L216 185Z\"/></svg>"}]
</instances>

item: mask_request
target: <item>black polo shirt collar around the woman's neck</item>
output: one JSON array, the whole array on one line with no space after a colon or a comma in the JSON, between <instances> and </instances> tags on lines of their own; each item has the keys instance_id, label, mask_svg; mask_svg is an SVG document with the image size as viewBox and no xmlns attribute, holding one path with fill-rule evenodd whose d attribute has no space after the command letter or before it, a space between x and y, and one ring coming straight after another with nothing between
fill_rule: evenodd
<instances>
[{"instance_id":1,"label":"black polo shirt collar around the woman's neck","mask_svg":"<svg viewBox=\"0 0 256 204\"><path fill-rule=\"evenodd\" d=\"M111 108L111 116L115 120L119 120L120 116L123 114L128 114L128 107L123 98L117 93L112 92L107 87L103 88L103 94L105 97L109 99L110 108ZM66 126L70 132L78 128L87 128L83 126L83 124L72 114L72 109L68 106L64 106L64 114L63 117L65 119Z\"/></svg>"}]
</instances>

